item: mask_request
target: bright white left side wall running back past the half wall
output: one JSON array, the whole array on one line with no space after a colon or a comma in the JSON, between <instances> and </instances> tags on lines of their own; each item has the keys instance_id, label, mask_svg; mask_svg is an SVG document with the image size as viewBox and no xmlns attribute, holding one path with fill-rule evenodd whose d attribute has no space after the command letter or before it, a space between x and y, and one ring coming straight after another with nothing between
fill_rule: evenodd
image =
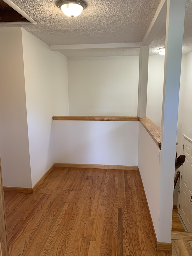
<instances>
[{"instance_id":1,"label":"bright white left side wall running back past the half wall","mask_svg":"<svg viewBox=\"0 0 192 256\"><path fill-rule=\"evenodd\" d=\"M52 116L68 115L67 58L22 29L32 186L55 163Z\"/></svg>"}]
</instances>

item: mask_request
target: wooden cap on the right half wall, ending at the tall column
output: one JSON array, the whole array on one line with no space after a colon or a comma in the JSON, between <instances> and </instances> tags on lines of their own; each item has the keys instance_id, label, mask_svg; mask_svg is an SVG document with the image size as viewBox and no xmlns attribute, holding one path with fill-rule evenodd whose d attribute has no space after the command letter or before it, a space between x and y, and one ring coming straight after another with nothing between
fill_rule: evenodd
<instances>
[{"instance_id":1,"label":"wooden cap on the right half wall, ending at the tall column","mask_svg":"<svg viewBox=\"0 0 192 256\"><path fill-rule=\"evenodd\" d=\"M152 122L148 117L139 118L139 121L149 133L149 135L152 137L152 139L155 141L155 143L158 145L158 147L161 149L161 128L154 122Z\"/></svg>"}]
</instances>

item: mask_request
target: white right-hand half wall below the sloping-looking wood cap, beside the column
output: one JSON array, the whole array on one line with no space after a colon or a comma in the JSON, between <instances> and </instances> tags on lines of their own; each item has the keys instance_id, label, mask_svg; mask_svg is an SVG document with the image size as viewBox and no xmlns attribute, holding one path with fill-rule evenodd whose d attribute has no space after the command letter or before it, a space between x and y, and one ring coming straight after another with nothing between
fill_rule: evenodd
<instances>
[{"instance_id":1,"label":"white right-hand half wall below the sloping-looking wood cap, beside the column","mask_svg":"<svg viewBox=\"0 0 192 256\"><path fill-rule=\"evenodd\" d=\"M158 238L161 164L159 147L143 125L139 124L138 167L145 189L153 226Z\"/></svg>"}]
</instances>

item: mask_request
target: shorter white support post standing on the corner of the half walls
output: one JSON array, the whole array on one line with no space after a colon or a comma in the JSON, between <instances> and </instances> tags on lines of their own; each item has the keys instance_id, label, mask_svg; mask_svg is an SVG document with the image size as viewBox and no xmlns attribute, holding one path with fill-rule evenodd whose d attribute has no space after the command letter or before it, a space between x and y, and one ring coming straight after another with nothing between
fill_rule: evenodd
<instances>
[{"instance_id":1,"label":"shorter white support post standing on the corner of the half walls","mask_svg":"<svg viewBox=\"0 0 192 256\"><path fill-rule=\"evenodd\" d=\"M146 117L149 46L140 47L137 116Z\"/></svg>"}]
</instances>

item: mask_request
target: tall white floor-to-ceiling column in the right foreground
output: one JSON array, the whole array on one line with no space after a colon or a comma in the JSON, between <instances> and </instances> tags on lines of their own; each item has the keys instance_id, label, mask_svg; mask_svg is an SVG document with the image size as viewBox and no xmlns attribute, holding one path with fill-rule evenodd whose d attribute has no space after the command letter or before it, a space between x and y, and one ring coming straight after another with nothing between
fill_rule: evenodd
<instances>
[{"instance_id":1,"label":"tall white floor-to-ceiling column in the right foreground","mask_svg":"<svg viewBox=\"0 0 192 256\"><path fill-rule=\"evenodd\" d=\"M185 0L167 0L158 242L171 242Z\"/></svg>"}]
</instances>

